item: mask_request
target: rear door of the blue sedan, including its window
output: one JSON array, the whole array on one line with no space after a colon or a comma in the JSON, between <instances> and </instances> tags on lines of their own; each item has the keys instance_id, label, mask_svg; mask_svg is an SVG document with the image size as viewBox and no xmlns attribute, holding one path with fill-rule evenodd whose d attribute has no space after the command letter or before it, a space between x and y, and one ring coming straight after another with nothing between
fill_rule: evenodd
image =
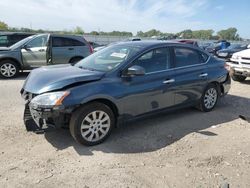
<instances>
[{"instance_id":1,"label":"rear door of the blue sedan, including its window","mask_svg":"<svg viewBox=\"0 0 250 188\"><path fill-rule=\"evenodd\" d=\"M174 47L175 105L197 102L207 84L208 56L188 47Z\"/></svg>"}]
</instances>

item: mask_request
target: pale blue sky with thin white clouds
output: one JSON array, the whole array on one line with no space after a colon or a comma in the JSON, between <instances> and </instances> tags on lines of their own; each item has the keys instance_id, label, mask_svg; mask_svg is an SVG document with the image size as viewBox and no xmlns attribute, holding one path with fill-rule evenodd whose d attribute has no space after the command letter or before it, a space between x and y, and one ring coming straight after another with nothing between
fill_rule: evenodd
<instances>
[{"instance_id":1,"label":"pale blue sky with thin white clouds","mask_svg":"<svg viewBox=\"0 0 250 188\"><path fill-rule=\"evenodd\" d=\"M90 31L179 32L236 27L250 38L249 0L1 0L11 27Z\"/></svg>"}]
</instances>

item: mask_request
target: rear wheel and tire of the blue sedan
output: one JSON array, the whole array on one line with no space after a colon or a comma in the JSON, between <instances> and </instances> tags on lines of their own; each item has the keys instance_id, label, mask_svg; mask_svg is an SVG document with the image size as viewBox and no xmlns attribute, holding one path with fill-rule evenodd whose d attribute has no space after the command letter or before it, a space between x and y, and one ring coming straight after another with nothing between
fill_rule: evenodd
<instances>
[{"instance_id":1,"label":"rear wheel and tire of the blue sedan","mask_svg":"<svg viewBox=\"0 0 250 188\"><path fill-rule=\"evenodd\" d=\"M199 109L203 112L210 112L216 106L219 96L218 87L215 84L209 84L202 94Z\"/></svg>"}]
</instances>

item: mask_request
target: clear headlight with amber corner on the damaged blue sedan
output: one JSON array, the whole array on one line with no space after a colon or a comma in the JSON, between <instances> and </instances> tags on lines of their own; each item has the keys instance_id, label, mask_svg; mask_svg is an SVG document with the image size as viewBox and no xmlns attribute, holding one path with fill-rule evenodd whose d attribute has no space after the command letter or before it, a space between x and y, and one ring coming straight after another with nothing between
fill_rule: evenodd
<instances>
[{"instance_id":1,"label":"clear headlight with amber corner on the damaged blue sedan","mask_svg":"<svg viewBox=\"0 0 250 188\"><path fill-rule=\"evenodd\" d=\"M69 91L44 93L33 98L31 104L35 106L59 106L68 95Z\"/></svg>"}]
</instances>

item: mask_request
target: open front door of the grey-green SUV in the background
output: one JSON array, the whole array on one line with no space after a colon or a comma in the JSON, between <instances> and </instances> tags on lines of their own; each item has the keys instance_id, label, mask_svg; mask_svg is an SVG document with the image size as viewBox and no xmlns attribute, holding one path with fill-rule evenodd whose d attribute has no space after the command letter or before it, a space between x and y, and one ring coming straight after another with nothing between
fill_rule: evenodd
<instances>
[{"instance_id":1,"label":"open front door of the grey-green SUV in the background","mask_svg":"<svg viewBox=\"0 0 250 188\"><path fill-rule=\"evenodd\" d=\"M32 68L47 65L48 36L47 34L39 35L21 49L25 64Z\"/></svg>"}]
</instances>

